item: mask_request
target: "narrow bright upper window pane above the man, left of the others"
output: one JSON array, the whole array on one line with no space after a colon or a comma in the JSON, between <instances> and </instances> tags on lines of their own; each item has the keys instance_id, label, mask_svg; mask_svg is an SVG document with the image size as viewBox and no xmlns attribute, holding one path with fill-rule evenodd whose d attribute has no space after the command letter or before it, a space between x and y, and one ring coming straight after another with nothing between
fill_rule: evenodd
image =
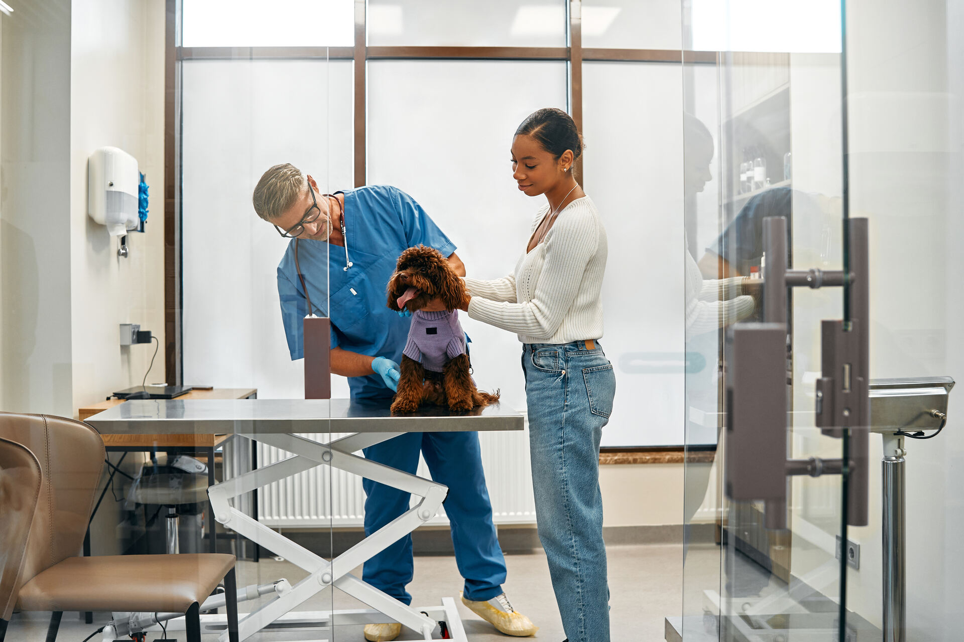
<instances>
[{"instance_id":1,"label":"narrow bright upper window pane above the man, left of the others","mask_svg":"<svg viewBox=\"0 0 964 642\"><path fill-rule=\"evenodd\" d=\"M185 47L355 44L353 0L183 0Z\"/></svg>"}]
</instances>

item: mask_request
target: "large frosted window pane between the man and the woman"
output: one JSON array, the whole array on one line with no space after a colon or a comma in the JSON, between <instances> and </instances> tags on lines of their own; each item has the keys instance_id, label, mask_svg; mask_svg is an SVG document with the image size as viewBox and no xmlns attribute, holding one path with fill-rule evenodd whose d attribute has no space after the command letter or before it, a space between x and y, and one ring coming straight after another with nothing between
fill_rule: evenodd
<instances>
[{"instance_id":1,"label":"large frosted window pane between the man and the woman","mask_svg":"<svg viewBox=\"0 0 964 642\"><path fill-rule=\"evenodd\" d=\"M565 109L566 64L378 61L368 64L368 92L368 182L412 194L470 276L511 272L546 202L517 189L512 136L537 109ZM479 388L500 388L504 403L524 409L516 335L461 319Z\"/></svg>"}]
</instances>

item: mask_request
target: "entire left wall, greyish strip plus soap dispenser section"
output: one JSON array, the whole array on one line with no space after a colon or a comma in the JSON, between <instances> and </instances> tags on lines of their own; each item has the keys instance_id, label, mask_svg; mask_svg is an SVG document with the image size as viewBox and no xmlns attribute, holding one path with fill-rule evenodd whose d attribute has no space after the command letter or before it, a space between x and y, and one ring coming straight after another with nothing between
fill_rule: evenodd
<instances>
[{"instance_id":1,"label":"entire left wall, greyish strip plus soap dispenser section","mask_svg":"<svg viewBox=\"0 0 964 642\"><path fill-rule=\"evenodd\" d=\"M164 1L48 0L2 23L0 408L75 417L147 370L151 348L120 348L121 322L164 341ZM128 259L87 216L87 157L103 145L153 187Z\"/></svg>"}]
</instances>

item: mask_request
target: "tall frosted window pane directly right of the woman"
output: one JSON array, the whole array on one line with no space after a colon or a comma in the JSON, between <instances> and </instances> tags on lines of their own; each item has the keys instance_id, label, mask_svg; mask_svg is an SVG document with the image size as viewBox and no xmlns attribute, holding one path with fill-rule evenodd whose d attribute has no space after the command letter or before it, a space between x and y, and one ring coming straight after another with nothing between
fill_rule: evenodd
<instances>
[{"instance_id":1,"label":"tall frosted window pane directly right of the woman","mask_svg":"<svg viewBox=\"0 0 964 642\"><path fill-rule=\"evenodd\" d=\"M601 343L617 390L603 446L683 444L680 66L584 63L582 83L586 193L609 238Z\"/></svg>"}]
</instances>

